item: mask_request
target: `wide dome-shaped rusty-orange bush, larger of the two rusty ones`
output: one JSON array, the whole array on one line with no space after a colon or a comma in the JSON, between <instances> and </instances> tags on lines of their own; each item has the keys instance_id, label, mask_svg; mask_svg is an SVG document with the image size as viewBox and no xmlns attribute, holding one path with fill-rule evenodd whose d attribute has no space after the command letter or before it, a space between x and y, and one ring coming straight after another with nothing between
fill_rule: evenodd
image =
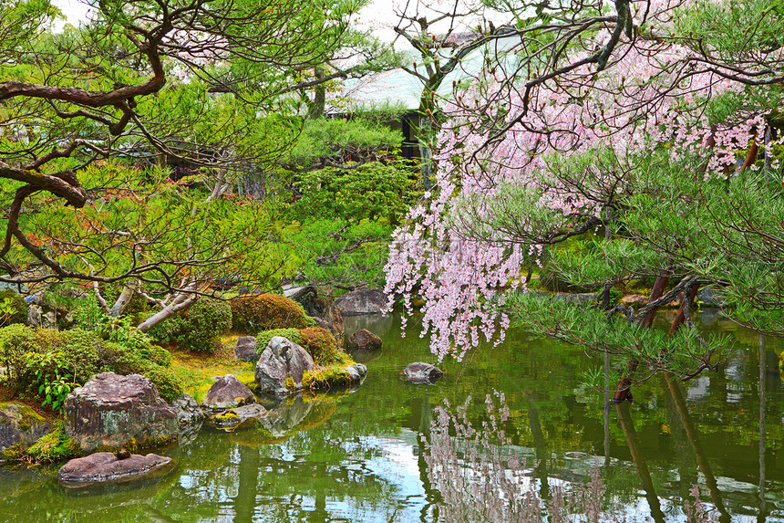
<instances>
[{"instance_id":1,"label":"wide dome-shaped rusty-orange bush, larger of the two rusty ones","mask_svg":"<svg viewBox=\"0 0 784 523\"><path fill-rule=\"evenodd\" d=\"M299 303L276 294L240 296L232 299L231 306L234 329L247 334L314 325L314 320L308 318Z\"/></svg>"}]
</instances>

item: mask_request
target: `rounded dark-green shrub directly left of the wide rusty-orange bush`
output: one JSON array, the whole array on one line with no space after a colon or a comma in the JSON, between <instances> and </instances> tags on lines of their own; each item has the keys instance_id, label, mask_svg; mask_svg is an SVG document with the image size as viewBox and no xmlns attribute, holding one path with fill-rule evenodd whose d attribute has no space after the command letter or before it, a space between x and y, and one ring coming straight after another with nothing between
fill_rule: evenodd
<instances>
[{"instance_id":1,"label":"rounded dark-green shrub directly left of the wide rusty-orange bush","mask_svg":"<svg viewBox=\"0 0 784 523\"><path fill-rule=\"evenodd\" d=\"M231 328L232 308L226 301L199 298L190 309L162 322L150 334L183 350L212 353L220 347L220 335Z\"/></svg>"}]
</instances>

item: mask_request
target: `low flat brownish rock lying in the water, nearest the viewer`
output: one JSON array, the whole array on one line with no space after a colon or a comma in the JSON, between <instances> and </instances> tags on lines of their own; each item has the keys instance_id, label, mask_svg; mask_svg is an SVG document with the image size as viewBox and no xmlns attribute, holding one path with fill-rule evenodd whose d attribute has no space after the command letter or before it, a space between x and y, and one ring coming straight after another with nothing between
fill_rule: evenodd
<instances>
[{"instance_id":1,"label":"low flat brownish rock lying in the water, nearest the viewer","mask_svg":"<svg viewBox=\"0 0 784 523\"><path fill-rule=\"evenodd\" d=\"M174 467L170 457L133 454L118 457L111 452L98 452L70 460L60 468L57 479L64 486L88 486L96 483L122 482L147 477L163 476Z\"/></svg>"}]
</instances>

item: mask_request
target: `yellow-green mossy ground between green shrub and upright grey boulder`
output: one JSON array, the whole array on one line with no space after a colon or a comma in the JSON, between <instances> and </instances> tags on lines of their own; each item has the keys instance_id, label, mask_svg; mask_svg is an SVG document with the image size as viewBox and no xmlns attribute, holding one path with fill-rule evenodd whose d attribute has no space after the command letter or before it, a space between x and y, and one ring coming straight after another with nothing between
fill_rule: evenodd
<instances>
[{"instance_id":1,"label":"yellow-green mossy ground between green shrub and upright grey boulder","mask_svg":"<svg viewBox=\"0 0 784 523\"><path fill-rule=\"evenodd\" d=\"M234 345L239 334L221 337L221 347L214 354L171 350L171 369L180 379L186 394L201 403L210 390L215 376L233 374L240 382L253 388L255 381L253 362L238 361L234 357Z\"/></svg>"}]
</instances>

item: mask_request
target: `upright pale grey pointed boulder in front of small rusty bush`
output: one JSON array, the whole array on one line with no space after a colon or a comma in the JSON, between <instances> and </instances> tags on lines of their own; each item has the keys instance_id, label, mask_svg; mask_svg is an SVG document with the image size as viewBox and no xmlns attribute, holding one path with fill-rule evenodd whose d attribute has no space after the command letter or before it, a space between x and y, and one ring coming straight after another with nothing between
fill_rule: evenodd
<instances>
[{"instance_id":1,"label":"upright pale grey pointed boulder in front of small rusty bush","mask_svg":"<svg viewBox=\"0 0 784 523\"><path fill-rule=\"evenodd\" d=\"M256 363L256 382L263 391L288 394L302 389L304 371L313 371L314 367L307 350L294 341L275 336Z\"/></svg>"}]
</instances>

